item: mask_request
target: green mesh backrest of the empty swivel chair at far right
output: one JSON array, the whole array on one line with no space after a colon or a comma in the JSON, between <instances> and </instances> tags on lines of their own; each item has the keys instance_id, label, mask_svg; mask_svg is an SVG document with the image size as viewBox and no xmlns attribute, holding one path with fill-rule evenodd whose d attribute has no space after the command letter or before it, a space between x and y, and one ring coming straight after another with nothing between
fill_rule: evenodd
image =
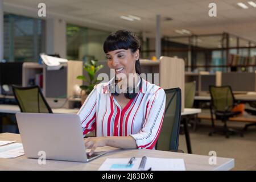
<instances>
[{"instance_id":1,"label":"green mesh backrest of the empty swivel chair at far right","mask_svg":"<svg viewBox=\"0 0 256 182\"><path fill-rule=\"evenodd\" d=\"M234 106L234 95L230 86L209 86L212 97L212 109L216 111L231 111Z\"/></svg>"}]
</instances>

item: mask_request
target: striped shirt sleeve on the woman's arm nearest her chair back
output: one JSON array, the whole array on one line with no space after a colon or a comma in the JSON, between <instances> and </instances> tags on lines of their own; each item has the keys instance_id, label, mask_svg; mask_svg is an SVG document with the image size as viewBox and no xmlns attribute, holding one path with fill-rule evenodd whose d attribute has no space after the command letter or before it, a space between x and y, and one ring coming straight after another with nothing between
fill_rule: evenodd
<instances>
[{"instance_id":1,"label":"striped shirt sleeve on the woman's arm nearest her chair back","mask_svg":"<svg viewBox=\"0 0 256 182\"><path fill-rule=\"evenodd\" d=\"M137 148L152 149L158 140L162 128L164 110L166 106L166 93L158 88L150 94L146 106L146 117L142 129L138 134L131 134L136 141Z\"/></svg>"}]
</instances>

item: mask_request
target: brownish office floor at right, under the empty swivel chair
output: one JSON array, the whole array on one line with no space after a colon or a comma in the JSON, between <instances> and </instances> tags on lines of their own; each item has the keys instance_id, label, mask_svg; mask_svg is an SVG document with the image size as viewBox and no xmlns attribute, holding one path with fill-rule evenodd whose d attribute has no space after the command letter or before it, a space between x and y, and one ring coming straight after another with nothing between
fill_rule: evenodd
<instances>
[{"instance_id":1,"label":"brownish office floor at right, under the empty swivel chair","mask_svg":"<svg viewBox=\"0 0 256 182\"><path fill-rule=\"evenodd\" d=\"M222 123L218 121L216 125L222 126ZM240 122L228 122L229 127L240 130L244 125ZM244 137L233 135L230 138L225 138L220 134L209 137L208 133L211 130L209 120L201 121L196 131L189 129L193 154L208 155L209 151L216 151L217 156L235 159L233 170L256 170L255 126L249 127L244 133ZM184 135L180 135L179 149L187 152Z\"/></svg>"}]
</instances>

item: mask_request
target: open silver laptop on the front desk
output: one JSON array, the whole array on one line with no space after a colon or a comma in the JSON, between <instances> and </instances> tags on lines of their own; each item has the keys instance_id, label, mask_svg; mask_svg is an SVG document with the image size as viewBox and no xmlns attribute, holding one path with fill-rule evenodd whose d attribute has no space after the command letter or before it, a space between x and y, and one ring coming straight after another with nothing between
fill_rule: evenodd
<instances>
[{"instance_id":1,"label":"open silver laptop on the front desk","mask_svg":"<svg viewBox=\"0 0 256 182\"><path fill-rule=\"evenodd\" d=\"M106 154L86 153L77 114L16 113L16 121L27 158L38 159L46 154L46 159L51 160L90 162Z\"/></svg>"}]
</instances>

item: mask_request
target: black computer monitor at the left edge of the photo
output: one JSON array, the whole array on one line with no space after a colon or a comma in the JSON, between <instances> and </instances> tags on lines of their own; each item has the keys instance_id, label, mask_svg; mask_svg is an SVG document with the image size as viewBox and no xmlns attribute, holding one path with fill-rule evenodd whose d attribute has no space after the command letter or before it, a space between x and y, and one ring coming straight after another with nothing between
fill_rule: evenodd
<instances>
[{"instance_id":1,"label":"black computer monitor at the left edge of the photo","mask_svg":"<svg viewBox=\"0 0 256 182\"><path fill-rule=\"evenodd\" d=\"M0 63L0 86L1 94L13 95L11 85L22 85L22 64Z\"/></svg>"}]
</instances>

